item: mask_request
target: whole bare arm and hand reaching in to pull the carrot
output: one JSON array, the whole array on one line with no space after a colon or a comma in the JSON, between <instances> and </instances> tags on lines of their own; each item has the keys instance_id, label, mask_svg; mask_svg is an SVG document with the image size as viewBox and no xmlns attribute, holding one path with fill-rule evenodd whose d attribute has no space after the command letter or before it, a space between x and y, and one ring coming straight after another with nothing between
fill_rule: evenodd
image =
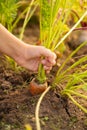
<instances>
[{"instance_id":1,"label":"whole bare arm and hand reaching in to pull the carrot","mask_svg":"<svg viewBox=\"0 0 87 130\"><path fill-rule=\"evenodd\" d=\"M46 72L56 63L56 55L43 46L29 45L11 34L0 24L0 51L13 58L20 66L37 71L40 63ZM41 57L44 57L43 59Z\"/></svg>"}]
</instances>

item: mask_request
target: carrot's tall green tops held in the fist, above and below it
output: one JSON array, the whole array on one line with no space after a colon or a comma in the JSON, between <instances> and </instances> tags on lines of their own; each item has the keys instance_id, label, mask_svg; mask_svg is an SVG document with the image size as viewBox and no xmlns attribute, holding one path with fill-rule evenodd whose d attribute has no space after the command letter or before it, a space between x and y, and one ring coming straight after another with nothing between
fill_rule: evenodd
<instances>
[{"instance_id":1,"label":"carrot's tall green tops held in the fist, above and below it","mask_svg":"<svg viewBox=\"0 0 87 130\"><path fill-rule=\"evenodd\" d=\"M75 0L40 0L40 41L43 46L52 51L58 49L60 44L63 45L64 40L87 15L87 12L84 13L81 19L70 28L68 19L75 3L77 6L79 5L79 1ZM40 67L38 71L40 81L46 79L45 73L42 74L42 72L43 67Z\"/></svg>"}]
</instances>

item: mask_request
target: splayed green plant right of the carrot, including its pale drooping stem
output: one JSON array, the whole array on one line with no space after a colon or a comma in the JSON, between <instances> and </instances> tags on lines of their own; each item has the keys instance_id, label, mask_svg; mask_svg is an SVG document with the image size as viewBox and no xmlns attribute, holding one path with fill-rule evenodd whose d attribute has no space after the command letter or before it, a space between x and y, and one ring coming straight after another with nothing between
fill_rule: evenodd
<instances>
[{"instance_id":1,"label":"splayed green plant right of the carrot, including its pale drooping stem","mask_svg":"<svg viewBox=\"0 0 87 130\"><path fill-rule=\"evenodd\" d=\"M77 97L80 97L80 101L87 100L87 96L84 94L84 92L86 93L87 91L87 55L81 57L78 61L65 69L70 59L86 44L87 42L84 42L69 55L57 71L52 84L48 86L40 96L35 111L37 130L41 130L39 119L40 104L50 89L55 90L55 94L58 95L58 98L61 97L61 99L65 99L64 101L70 99L79 109L87 113L87 109L77 101Z\"/></svg>"}]
</instances>

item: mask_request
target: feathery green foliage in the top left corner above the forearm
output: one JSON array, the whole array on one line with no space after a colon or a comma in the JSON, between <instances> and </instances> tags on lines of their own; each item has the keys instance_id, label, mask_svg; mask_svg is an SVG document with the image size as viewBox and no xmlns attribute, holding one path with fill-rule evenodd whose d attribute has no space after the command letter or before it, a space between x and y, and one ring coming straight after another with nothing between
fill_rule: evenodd
<instances>
[{"instance_id":1,"label":"feathery green foliage in the top left corner above the forearm","mask_svg":"<svg viewBox=\"0 0 87 130\"><path fill-rule=\"evenodd\" d=\"M17 16L19 0L1 0L0 1L0 22L7 26L11 31L12 23Z\"/></svg>"}]
</instances>

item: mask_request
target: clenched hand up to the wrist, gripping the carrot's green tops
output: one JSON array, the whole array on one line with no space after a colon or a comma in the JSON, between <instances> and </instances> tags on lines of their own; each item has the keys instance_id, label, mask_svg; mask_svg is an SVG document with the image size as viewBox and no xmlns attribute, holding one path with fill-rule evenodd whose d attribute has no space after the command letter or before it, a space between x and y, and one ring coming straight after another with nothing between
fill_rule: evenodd
<instances>
[{"instance_id":1,"label":"clenched hand up to the wrist, gripping the carrot's green tops","mask_svg":"<svg viewBox=\"0 0 87 130\"><path fill-rule=\"evenodd\" d=\"M24 57L16 61L22 67L34 72L37 72L39 64L42 63L45 71L49 73L56 63L56 55L43 46L26 44Z\"/></svg>"}]
</instances>

